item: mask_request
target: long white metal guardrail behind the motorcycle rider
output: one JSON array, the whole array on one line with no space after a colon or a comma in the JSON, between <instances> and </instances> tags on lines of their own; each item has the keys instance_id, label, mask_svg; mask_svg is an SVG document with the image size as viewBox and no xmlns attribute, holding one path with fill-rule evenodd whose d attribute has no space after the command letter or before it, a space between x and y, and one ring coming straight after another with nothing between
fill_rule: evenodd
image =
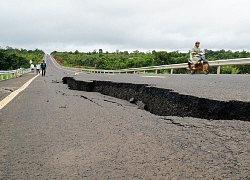
<instances>
[{"instance_id":1,"label":"long white metal guardrail behind the motorcycle rider","mask_svg":"<svg viewBox=\"0 0 250 180\"><path fill-rule=\"evenodd\" d=\"M239 59L222 59L215 61L208 61L209 65L217 67L217 74L220 74L221 66L232 66L232 65L250 65L250 58L239 58ZM79 69L86 73L136 73L146 71L155 71L155 74L158 73L158 70L170 69L171 74L173 74L174 69L187 68L187 63L181 64L170 64L170 65L161 65L161 66L149 66L149 67L140 67L140 68L129 68L129 69L119 69L119 70L103 70L103 69Z\"/></svg>"}]
</instances>

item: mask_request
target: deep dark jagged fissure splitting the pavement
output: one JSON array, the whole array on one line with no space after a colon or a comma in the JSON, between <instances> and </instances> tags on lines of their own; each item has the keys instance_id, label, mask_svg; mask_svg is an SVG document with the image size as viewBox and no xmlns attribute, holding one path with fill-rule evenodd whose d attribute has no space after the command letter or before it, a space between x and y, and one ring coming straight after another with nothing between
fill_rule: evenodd
<instances>
[{"instance_id":1,"label":"deep dark jagged fissure splitting the pavement","mask_svg":"<svg viewBox=\"0 0 250 180\"><path fill-rule=\"evenodd\" d=\"M124 99L137 104L141 109L160 116L250 121L249 102L199 98L147 84L97 80L78 81L73 77L64 77L62 80L72 90L99 92Z\"/></svg>"}]
</instances>

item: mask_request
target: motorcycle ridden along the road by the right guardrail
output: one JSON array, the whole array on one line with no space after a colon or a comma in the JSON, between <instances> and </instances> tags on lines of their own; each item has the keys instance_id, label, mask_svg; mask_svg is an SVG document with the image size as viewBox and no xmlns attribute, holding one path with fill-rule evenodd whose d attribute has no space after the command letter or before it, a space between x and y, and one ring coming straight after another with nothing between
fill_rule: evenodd
<instances>
[{"instance_id":1,"label":"motorcycle ridden along the road by the right guardrail","mask_svg":"<svg viewBox=\"0 0 250 180\"><path fill-rule=\"evenodd\" d=\"M209 73L209 63L205 59L205 53L197 54L199 60L197 64L194 64L191 59L188 59L188 67L187 69L191 74L194 74L196 71L203 71L204 74Z\"/></svg>"}]
</instances>

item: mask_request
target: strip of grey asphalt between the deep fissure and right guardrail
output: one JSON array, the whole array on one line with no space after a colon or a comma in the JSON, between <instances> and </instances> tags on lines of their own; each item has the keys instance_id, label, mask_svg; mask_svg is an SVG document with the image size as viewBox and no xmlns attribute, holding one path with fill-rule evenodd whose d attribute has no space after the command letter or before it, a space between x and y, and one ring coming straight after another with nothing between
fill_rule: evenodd
<instances>
[{"instance_id":1,"label":"strip of grey asphalt between the deep fissure and right guardrail","mask_svg":"<svg viewBox=\"0 0 250 180\"><path fill-rule=\"evenodd\" d=\"M187 75L187 74L81 74L77 80L104 80L172 89L180 94L220 101L250 102L250 75Z\"/></svg>"}]
</instances>

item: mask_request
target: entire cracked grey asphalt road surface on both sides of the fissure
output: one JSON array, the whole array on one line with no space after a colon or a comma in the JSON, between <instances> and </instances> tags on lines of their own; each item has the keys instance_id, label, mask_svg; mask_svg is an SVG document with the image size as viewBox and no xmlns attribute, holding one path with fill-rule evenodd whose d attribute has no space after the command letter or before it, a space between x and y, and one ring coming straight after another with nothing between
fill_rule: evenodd
<instances>
[{"instance_id":1,"label":"entire cracked grey asphalt road surface on both sides of the fissure","mask_svg":"<svg viewBox=\"0 0 250 180\"><path fill-rule=\"evenodd\" d=\"M249 76L75 75L46 61L46 76L0 110L0 179L250 179L249 122L156 116L61 81L146 83L249 102ZM6 82L2 89L20 86Z\"/></svg>"}]
</instances>

